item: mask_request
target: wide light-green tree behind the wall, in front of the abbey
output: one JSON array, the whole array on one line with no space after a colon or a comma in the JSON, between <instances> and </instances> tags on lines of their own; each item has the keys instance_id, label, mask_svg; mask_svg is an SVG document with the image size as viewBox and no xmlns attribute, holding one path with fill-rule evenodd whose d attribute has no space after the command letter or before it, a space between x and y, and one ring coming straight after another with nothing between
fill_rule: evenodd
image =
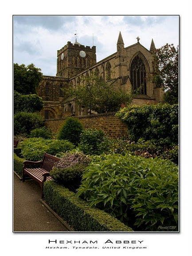
<instances>
[{"instance_id":1,"label":"wide light-green tree behind the wall, in front of the abbey","mask_svg":"<svg viewBox=\"0 0 192 256\"><path fill-rule=\"evenodd\" d=\"M92 73L83 78L83 85L76 88L69 87L69 94L78 99L78 105L98 113L116 112L121 104L130 104L133 96L125 93L119 87L114 87L113 82L105 82L101 77Z\"/></svg>"}]
</instances>

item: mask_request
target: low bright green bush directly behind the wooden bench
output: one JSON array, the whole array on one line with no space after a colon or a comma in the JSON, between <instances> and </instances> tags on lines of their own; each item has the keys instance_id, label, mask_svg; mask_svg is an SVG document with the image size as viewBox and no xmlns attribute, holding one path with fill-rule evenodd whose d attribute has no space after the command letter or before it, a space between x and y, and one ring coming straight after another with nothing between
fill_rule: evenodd
<instances>
[{"instance_id":1,"label":"low bright green bush directly behind the wooden bench","mask_svg":"<svg viewBox=\"0 0 192 256\"><path fill-rule=\"evenodd\" d=\"M45 152L55 156L59 152L66 152L74 148L67 140L44 140L43 138L29 138L20 145L21 155L31 161L43 159Z\"/></svg>"}]
</instances>

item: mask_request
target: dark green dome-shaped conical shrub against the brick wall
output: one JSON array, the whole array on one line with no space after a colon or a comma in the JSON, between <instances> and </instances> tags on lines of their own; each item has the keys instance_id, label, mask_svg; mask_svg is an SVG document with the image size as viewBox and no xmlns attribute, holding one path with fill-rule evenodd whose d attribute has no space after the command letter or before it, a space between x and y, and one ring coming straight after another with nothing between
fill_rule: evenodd
<instances>
[{"instance_id":1,"label":"dark green dome-shaped conical shrub against the brick wall","mask_svg":"<svg viewBox=\"0 0 192 256\"><path fill-rule=\"evenodd\" d=\"M59 131L58 139L69 140L74 145L78 145L82 130L83 126L78 118L68 117Z\"/></svg>"}]
</instances>

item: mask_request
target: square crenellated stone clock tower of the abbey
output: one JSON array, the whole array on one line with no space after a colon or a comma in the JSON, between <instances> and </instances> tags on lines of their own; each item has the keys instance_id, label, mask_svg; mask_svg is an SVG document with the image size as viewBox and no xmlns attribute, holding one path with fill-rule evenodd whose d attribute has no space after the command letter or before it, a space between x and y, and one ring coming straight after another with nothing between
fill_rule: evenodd
<instances>
[{"instance_id":1,"label":"square crenellated stone clock tower of the abbey","mask_svg":"<svg viewBox=\"0 0 192 256\"><path fill-rule=\"evenodd\" d=\"M56 76L70 78L96 64L96 46L84 46L75 39L57 51Z\"/></svg>"}]
</instances>

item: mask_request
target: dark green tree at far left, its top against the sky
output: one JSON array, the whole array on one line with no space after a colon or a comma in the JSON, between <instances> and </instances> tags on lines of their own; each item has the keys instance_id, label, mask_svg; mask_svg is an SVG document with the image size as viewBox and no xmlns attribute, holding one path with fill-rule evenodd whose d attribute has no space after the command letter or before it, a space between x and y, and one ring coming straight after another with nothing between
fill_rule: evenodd
<instances>
[{"instance_id":1,"label":"dark green tree at far left, its top against the sky","mask_svg":"<svg viewBox=\"0 0 192 256\"><path fill-rule=\"evenodd\" d=\"M14 63L14 90L21 94L36 94L42 75L41 69L32 63L27 67Z\"/></svg>"}]
</instances>

